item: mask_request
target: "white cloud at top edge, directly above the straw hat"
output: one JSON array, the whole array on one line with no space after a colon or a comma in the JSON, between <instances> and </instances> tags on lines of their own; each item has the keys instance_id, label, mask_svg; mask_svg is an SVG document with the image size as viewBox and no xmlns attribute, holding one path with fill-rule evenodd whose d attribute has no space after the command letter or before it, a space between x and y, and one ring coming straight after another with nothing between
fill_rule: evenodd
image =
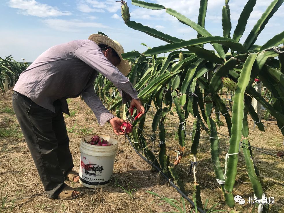
<instances>
[{"instance_id":1,"label":"white cloud at top edge, directly above the straw hat","mask_svg":"<svg viewBox=\"0 0 284 213\"><path fill-rule=\"evenodd\" d=\"M116 12L120 9L120 3L113 0L80 0L77 9L81 12Z\"/></svg>"}]
</instances>

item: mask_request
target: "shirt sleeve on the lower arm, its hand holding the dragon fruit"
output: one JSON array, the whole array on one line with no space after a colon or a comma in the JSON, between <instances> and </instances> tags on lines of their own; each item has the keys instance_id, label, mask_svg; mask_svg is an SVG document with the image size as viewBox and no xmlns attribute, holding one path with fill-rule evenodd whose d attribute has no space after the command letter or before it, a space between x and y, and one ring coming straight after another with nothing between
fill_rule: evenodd
<instances>
[{"instance_id":1,"label":"shirt sleeve on the lower arm, its hand holding the dragon fruit","mask_svg":"<svg viewBox=\"0 0 284 213\"><path fill-rule=\"evenodd\" d=\"M103 126L109 119L115 117L110 113L101 102L100 98L96 95L94 86L90 85L81 94L84 101L94 112L99 124Z\"/></svg>"}]
</instances>

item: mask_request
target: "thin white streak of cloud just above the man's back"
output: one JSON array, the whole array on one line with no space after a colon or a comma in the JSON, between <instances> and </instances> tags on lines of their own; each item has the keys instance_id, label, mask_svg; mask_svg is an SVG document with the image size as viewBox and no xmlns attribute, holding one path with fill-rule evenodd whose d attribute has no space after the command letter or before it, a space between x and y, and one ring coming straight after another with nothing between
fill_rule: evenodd
<instances>
[{"instance_id":1,"label":"thin white streak of cloud just above the man's back","mask_svg":"<svg viewBox=\"0 0 284 213\"><path fill-rule=\"evenodd\" d=\"M43 22L54 30L64 32L80 32L83 28L109 28L101 23L84 22L78 19L64 20L64 19L46 19Z\"/></svg>"}]
</instances>

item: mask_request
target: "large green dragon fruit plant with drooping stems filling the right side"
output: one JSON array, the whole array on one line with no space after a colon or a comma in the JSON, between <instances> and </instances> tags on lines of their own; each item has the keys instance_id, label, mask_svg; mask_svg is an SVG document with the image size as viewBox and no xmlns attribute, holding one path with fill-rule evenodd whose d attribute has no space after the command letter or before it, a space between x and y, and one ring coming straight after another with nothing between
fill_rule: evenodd
<instances>
[{"instance_id":1,"label":"large green dragon fruit plant with drooping stems filling the right side","mask_svg":"<svg viewBox=\"0 0 284 213\"><path fill-rule=\"evenodd\" d=\"M233 33L231 33L229 0L225 0L225 5L220 10L220 13L222 13L222 36L212 36L206 30L207 0L200 0L197 23L163 5L132 0L133 5L145 8L145 10L164 10L167 14L178 19L179 22L193 28L196 31L197 38L190 40L170 36L132 21L127 3L123 0L120 1L122 3L122 19L125 25L168 43L159 47L148 48L143 53L132 51L122 54L123 59L129 60L132 64L128 77L139 93L138 98L143 100L146 112L149 109L151 110L148 105L155 105L157 110L152 120L151 141L146 141L143 135L145 115L132 123L133 127L137 126L137 128L132 129L130 134L135 148L149 158L153 164L160 167L168 177L174 179L181 189L183 188L178 172L175 172L175 168L169 165L169 156L166 155L166 143L170 142L165 141L164 120L168 113L172 113L172 104L174 104L180 120L178 128L180 154L177 157L176 164L181 160L182 152L185 150L185 127L187 126L185 120L192 116L196 129L196 132L192 134L192 141L188 142L192 154L195 157L198 155L200 139L198 130L202 128L209 133L208 141L210 141L211 161L216 182L220 185L224 199L230 208L235 206L233 190L237 175L237 153L239 152L244 154L253 194L255 194L255 197L261 198L264 193L259 181L261 177L259 177L253 161L248 139L248 115L256 121L255 124L260 131L265 131L263 123L252 107L252 97L275 117L279 131L284 135L284 47L281 46L284 32L275 35L265 44L255 44L269 19L284 2L284 0L269 1L271 2L270 5L260 16L243 44L240 43L240 38L248 27L248 19L253 12L256 0L247 0ZM214 50L204 48L206 43L210 43ZM146 44L142 45L147 46ZM261 94L253 88L255 79L259 79L275 97L274 105L261 97ZM107 94L112 84L105 82L104 85L105 93L101 93L102 99L105 99L104 94ZM226 105L218 95L222 86L235 92L232 100L232 113L227 111ZM122 99L117 98L109 109L120 111L121 105ZM220 112L220 114L214 113L214 111ZM227 150L220 150L219 146L216 123L218 124L218 116L221 114L226 120L227 134L230 137ZM216 117L216 120L212 118L213 116ZM156 137L157 131L159 133ZM159 152L154 155L148 149L148 143L152 142L154 146L156 138L159 141ZM241 142L242 148L240 148ZM225 166L220 163L222 160L220 160L219 153L222 153L222 151L227 153L227 165ZM195 180L194 184L197 184L197 182ZM195 196L200 195L200 187L194 188L194 193ZM262 212L268 212L268 208L267 204L259 205Z\"/></svg>"}]
</instances>

